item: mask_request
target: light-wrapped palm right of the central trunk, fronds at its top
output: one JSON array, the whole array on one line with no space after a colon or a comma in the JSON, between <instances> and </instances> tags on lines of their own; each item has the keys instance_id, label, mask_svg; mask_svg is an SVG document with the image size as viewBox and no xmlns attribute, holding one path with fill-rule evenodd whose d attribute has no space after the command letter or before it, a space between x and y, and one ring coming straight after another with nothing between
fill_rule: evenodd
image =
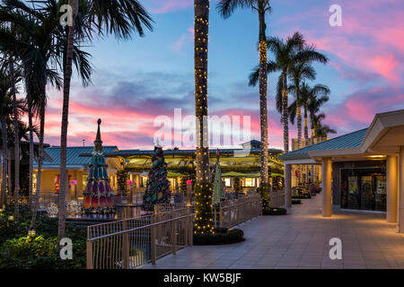
<instances>
[{"instance_id":1,"label":"light-wrapped palm right of the central trunk, fronds at its top","mask_svg":"<svg viewBox=\"0 0 404 287\"><path fill-rule=\"evenodd\" d=\"M230 17L237 8L250 8L259 15L259 120L261 129L261 185L268 184L268 70L267 70L267 24L265 14L271 12L269 0L221 0L217 4L219 13L224 17Z\"/></svg>"}]
</instances>

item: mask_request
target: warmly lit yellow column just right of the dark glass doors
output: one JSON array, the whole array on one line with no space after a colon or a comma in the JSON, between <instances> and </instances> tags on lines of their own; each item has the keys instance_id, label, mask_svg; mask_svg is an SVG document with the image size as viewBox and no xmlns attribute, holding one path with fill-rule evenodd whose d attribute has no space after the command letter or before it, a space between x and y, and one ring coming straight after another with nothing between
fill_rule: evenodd
<instances>
[{"instance_id":1,"label":"warmly lit yellow column just right of the dark glass doors","mask_svg":"<svg viewBox=\"0 0 404 287\"><path fill-rule=\"evenodd\" d=\"M397 222L397 176L397 157L388 156L386 159L387 222Z\"/></svg>"}]
</instances>

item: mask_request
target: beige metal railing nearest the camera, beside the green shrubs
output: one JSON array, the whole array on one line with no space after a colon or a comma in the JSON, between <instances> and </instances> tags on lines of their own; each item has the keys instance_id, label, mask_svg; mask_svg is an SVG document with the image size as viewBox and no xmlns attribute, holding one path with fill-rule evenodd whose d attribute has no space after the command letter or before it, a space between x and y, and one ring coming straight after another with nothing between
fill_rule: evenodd
<instances>
[{"instance_id":1,"label":"beige metal railing nearest the camera, beside the green shrubs","mask_svg":"<svg viewBox=\"0 0 404 287\"><path fill-rule=\"evenodd\" d=\"M154 215L145 217L139 223L142 226L129 227L134 222L121 221L122 230L87 239L87 269L130 269L155 264L159 257L175 255L178 249L192 246L195 214L160 222Z\"/></svg>"}]
</instances>

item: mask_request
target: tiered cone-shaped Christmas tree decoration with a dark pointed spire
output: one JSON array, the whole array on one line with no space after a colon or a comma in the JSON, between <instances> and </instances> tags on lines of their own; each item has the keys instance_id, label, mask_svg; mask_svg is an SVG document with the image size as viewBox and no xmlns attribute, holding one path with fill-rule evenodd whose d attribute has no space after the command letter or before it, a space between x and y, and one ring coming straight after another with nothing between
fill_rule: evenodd
<instances>
[{"instance_id":1,"label":"tiered cone-shaped Christmas tree decoration with a dark pointed spire","mask_svg":"<svg viewBox=\"0 0 404 287\"><path fill-rule=\"evenodd\" d=\"M100 125L101 119L97 121L97 137L94 141L92 152L92 163L87 178L87 187L84 195L84 212L110 214L115 213L114 192L110 188L110 177L107 173L107 164L102 151Z\"/></svg>"}]
</instances>

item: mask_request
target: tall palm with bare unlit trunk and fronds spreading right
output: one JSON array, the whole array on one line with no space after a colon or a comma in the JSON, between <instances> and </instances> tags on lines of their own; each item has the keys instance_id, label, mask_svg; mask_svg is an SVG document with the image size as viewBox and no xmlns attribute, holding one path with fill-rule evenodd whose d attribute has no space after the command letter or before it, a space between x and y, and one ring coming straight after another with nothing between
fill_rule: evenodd
<instances>
[{"instance_id":1,"label":"tall palm with bare unlit trunk and fronds spreading right","mask_svg":"<svg viewBox=\"0 0 404 287\"><path fill-rule=\"evenodd\" d=\"M145 11L145 8L136 0L116 1L95 1L95 0L68 0L68 4L73 9L73 22L67 28L66 58L64 60L64 82L63 82L63 108L62 108L62 127L60 135L60 190L59 190L59 213L57 242L65 234L66 218L66 149L67 149L67 124L68 109L70 97L70 81L72 78L72 62L74 59L75 41L91 40L92 33L95 31L98 35L114 34L119 39L130 39L133 32L144 35L145 26L152 30L152 18ZM76 29L76 16L82 14L79 22L82 27ZM83 28L87 28L85 33ZM75 34L77 37L75 39Z\"/></svg>"}]
</instances>

